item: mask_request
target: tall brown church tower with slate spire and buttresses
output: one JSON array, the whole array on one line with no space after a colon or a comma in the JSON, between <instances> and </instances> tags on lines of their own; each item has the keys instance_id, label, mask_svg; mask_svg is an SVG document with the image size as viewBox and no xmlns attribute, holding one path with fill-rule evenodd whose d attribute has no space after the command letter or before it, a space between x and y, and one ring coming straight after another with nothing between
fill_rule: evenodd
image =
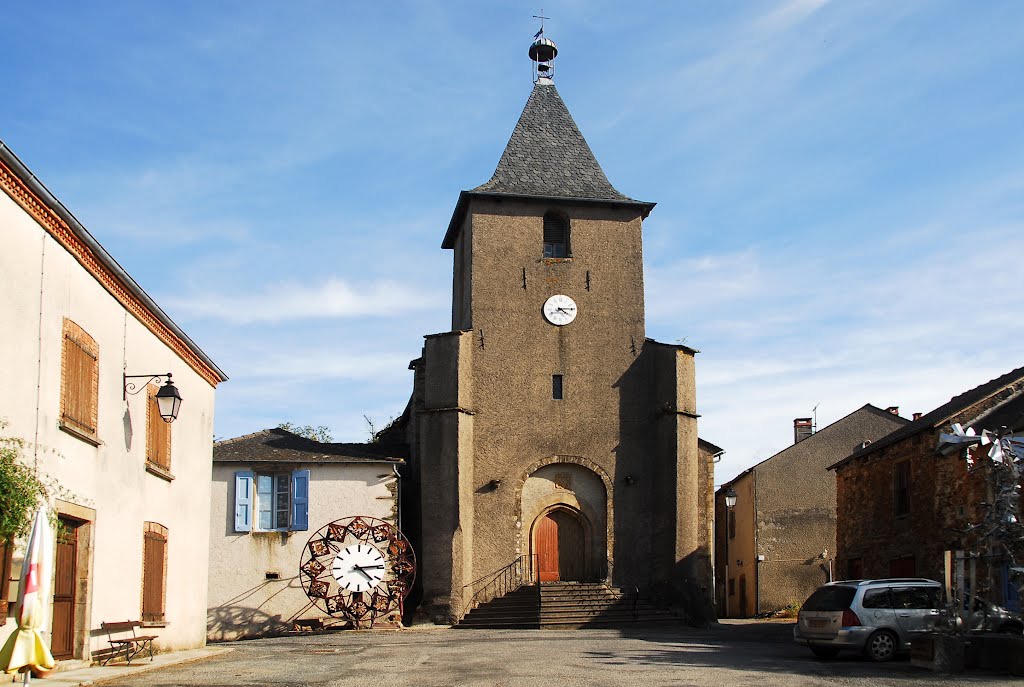
<instances>
[{"instance_id":1,"label":"tall brown church tower with slate spire and buttresses","mask_svg":"<svg viewBox=\"0 0 1024 687\"><path fill-rule=\"evenodd\" d=\"M653 207L612 187L543 77L492 179L460 195L442 242L452 330L411 363L407 426L421 515L407 528L434 619L458 620L516 561L710 612L697 351L644 329Z\"/></svg>"}]
</instances>

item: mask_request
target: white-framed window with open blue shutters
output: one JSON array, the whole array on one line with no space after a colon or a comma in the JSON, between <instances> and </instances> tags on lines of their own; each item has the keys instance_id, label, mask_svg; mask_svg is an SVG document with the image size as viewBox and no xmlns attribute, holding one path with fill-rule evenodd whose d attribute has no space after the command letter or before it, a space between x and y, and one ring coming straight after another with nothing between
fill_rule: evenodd
<instances>
[{"instance_id":1,"label":"white-framed window with open blue shutters","mask_svg":"<svg viewBox=\"0 0 1024 687\"><path fill-rule=\"evenodd\" d=\"M308 470L234 473L234 531L308 528Z\"/></svg>"}]
</instances>

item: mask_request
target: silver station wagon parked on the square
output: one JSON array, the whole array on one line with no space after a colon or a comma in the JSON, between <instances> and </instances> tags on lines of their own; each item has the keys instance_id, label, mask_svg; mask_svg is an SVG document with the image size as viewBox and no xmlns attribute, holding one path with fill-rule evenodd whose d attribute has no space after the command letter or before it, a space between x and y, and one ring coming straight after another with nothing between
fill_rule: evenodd
<instances>
[{"instance_id":1,"label":"silver station wagon parked on the square","mask_svg":"<svg viewBox=\"0 0 1024 687\"><path fill-rule=\"evenodd\" d=\"M847 650L889 660L909 649L912 633L933 627L941 608L942 585L934 579L835 582L807 599L793 637L821 658Z\"/></svg>"}]
</instances>

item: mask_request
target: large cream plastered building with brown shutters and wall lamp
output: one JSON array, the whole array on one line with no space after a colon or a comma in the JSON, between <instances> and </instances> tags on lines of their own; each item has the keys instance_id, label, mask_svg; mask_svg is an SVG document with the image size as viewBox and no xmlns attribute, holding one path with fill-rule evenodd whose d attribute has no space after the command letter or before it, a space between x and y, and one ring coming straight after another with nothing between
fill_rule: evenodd
<instances>
[{"instance_id":1,"label":"large cream plastered building with brown shutters and wall lamp","mask_svg":"<svg viewBox=\"0 0 1024 687\"><path fill-rule=\"evenodd\" d=\"M158 650L206 641L214 394L227 379L0 142L0 435L59 484L53 654L109 648L102 622L140 620ZM183 399L165 423L154 394ZM3 546L16 596L24 542ZM8 604L0 604L6 606ZM13 605L13 604L9 604ZM13 620L0 617L0 642Z\"/></svg>"}]
</instances>

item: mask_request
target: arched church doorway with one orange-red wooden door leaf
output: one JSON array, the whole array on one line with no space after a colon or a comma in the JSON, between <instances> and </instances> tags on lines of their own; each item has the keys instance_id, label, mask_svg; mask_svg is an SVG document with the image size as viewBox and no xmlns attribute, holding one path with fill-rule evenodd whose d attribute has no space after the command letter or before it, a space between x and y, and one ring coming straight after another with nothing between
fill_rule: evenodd
<instances>
[{"instance_id":1,"label":"arched church doorway with one orange-red wooden door leaf","mask_svg":"<svg viewBox=\"0 0 1024 687\"><path fill-rule=\"evenodd\" d=\"M540 582L585 582L592 578L591 527L574 509L556 507L538 516L532 526L532 553Z\"/></svg>"}]
</instances>

